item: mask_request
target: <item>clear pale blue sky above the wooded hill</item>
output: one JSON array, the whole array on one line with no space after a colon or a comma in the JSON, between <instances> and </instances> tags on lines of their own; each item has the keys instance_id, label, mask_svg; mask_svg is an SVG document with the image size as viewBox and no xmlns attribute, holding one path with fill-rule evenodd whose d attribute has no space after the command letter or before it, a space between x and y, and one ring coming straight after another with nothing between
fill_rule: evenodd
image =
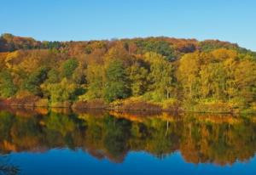
<instances>
[{"instance_id":1,"label":"clear pale blue sky above the wooded hill","mask_svg":"<svg viewBox=\"0 0 256 175\"><path fill-rule=\"evenodd\" d=\"M182 37L256 51L256 0L0 0L0 33L48 41Z\"/></svg>"}]
</instances>

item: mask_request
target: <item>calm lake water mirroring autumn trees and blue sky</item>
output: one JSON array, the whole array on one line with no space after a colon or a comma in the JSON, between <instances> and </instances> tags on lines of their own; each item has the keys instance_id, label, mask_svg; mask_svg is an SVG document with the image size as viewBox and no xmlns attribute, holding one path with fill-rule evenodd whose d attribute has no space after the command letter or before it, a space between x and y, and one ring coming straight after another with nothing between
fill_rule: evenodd
<instances>
[{"instance_id":1,"label":"calm lake water mirroring autumn trees and blue sky","mask_svg":"<svg viewBox=\"0 0 256 175\"><path fill-rule=\"evenodd\" d=\"M256 117L0 110L0 174L256 174Z\"/></svg>"}]
</instances>

